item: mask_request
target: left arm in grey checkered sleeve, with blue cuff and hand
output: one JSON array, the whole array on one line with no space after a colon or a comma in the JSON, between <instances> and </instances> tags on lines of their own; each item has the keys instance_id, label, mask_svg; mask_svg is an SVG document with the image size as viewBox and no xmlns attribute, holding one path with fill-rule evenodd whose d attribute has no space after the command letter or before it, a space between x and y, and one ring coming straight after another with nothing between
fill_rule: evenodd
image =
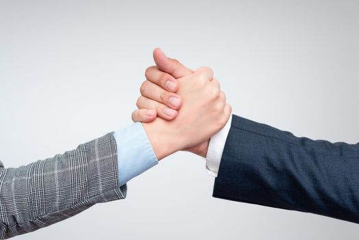
<instances>
[{"instance_id":1,"label":"left arm in grey checkered sleeve, with blue cuff and hand","mask_svg":"<svg viewBox=\"0 0 359 240\"><path fill-rule=\"evenodd\" d=\"M156 165L157 159L218 132L230 117L230 106L212 74L201 68L183 77L180 93L186 104L171 122L135 123L63 155L26 167L1 168L0 237L31 232L99 202L122 199L125 183Z\"/></svg>"}]
</instances>

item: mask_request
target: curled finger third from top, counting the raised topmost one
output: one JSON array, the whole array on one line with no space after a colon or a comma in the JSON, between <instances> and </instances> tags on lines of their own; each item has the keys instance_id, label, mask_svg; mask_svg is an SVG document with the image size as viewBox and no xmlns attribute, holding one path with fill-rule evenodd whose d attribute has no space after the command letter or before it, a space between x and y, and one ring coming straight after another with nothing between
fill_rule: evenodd
<instances>
[{"instance_id":1,"label":"curled finger third from top, counting the raised topmost one","mask_svg":"<svg viewBox=\"0 0 359 240\"><path fill-rule=\"evenodd\" d=\"M153 82L145 81L140 87L140 93L154 101L158 101L170 108L178 109L182 106L182 97L175 93L170 93Z\"/></svg>"}]
</instances>

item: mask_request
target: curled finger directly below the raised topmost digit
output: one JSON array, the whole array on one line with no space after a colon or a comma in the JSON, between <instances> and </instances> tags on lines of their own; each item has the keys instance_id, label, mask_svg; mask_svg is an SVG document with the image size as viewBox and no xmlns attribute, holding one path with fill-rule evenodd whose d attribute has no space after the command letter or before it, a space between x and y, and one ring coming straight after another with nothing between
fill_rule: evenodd
<instances>
[{"instance_id":1,"label":"curled finger directly below the raised topmost digit","mask_svg":"<svg viewBox=\"0 0 359 240\"><path fill-rule=\"evenodd\" d=\"M172 93L175 93L178 90L178 81L175 77L172 77L169 73L161 71L157 66L147 68L145 77L147 80Z\"/></svg>"}]
</instances>

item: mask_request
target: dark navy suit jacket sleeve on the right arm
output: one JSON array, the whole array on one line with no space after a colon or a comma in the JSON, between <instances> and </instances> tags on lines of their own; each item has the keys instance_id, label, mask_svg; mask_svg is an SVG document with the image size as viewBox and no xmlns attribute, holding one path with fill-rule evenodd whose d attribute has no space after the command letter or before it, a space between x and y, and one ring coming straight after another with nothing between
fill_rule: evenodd
<instances>
[{"instance_id":1,"label":"dark navy suit jacket sleeve on the right arm","mask_svg":"<svg viewBox=\"0 0 359 240\"><path fill-rule=\"evenodd\" d=\"M359 223L359 143L297 138L233 116L213 196Z\"/></svg>"}]
</instances>

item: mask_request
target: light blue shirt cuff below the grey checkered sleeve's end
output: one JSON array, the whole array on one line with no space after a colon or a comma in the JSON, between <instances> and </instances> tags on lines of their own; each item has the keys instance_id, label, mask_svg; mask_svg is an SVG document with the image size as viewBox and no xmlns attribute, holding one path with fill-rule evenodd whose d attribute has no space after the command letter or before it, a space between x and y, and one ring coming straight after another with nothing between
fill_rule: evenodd
<instances>
[{"instance_id":1,"label":"light blue shirt cuff below the grey checkered sleeve's end","mask_svg":"<svg viewBox=\"0 0 359 240\"><path fill-rule=\"evenodd\" d=\"M158 164L142 123L133 123L115 132L114 139L117 145L120 186Z\"/></svg>"}]
</instances>

